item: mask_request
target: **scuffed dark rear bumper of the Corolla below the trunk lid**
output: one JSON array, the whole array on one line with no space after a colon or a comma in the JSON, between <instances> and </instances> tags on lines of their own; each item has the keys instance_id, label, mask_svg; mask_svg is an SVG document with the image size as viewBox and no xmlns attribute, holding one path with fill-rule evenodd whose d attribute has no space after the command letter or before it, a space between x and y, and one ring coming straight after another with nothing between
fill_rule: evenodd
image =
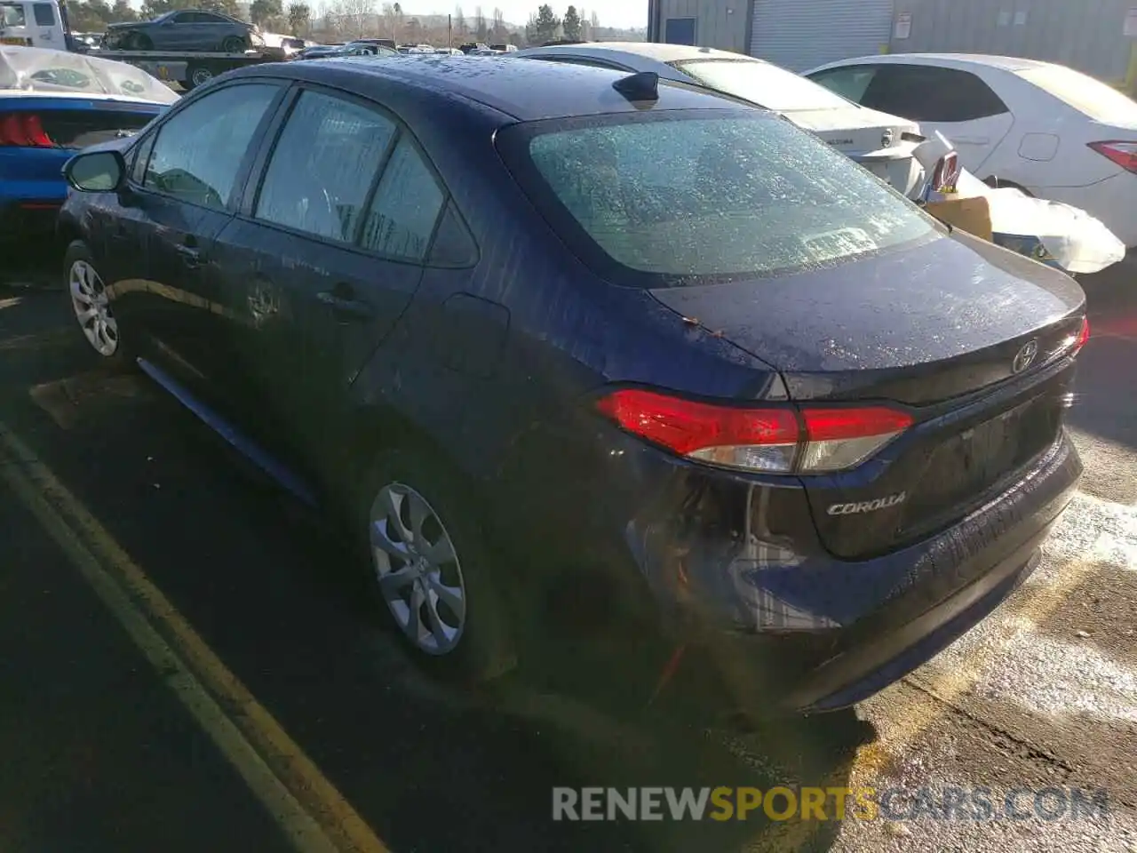
<instances>
[{"instance_id":1,"label":"scuffed dark rear bumper of the Corolla below the trunk lid","mask_svg":"<svg viewBox=\"0 0 1137 853\"><path fill-rule=\"evenodd\" d=\"M724 629L706 619L704 607L688 610L670 628L740 703L728 712L758 704L767 712L811 713L856 704L951 645L1030 574L1081 467L1063 432L1013 488L938 536L874 560L789 568L814 587L821 606L812 610L800 588L786 582L787 566L770 561L740 569L736 556L719 571L748 580L748 589L735 589L747 603L761 602L764 624ZM698 571L688 572L688 582L691 577ZM873 604L865 590L881 585L891 589ZM860 601L857 612L827 606L833 595ZM686 597L698 596L687 590Z\"/></svg>"}]
</instances>

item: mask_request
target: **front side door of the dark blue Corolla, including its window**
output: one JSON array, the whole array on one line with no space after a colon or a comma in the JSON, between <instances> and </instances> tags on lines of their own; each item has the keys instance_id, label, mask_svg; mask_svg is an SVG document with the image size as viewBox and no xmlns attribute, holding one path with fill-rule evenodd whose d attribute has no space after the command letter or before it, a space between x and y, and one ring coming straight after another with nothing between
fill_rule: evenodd
<instances>
[{"instance_id":1,"label":"front side door of the dark blue Corolla, including its window","mask_svg":"<svg viewBox=\"0 0 1137 853\"><path fill-rule=\"evenodd\" d=\"M150 337L188 379L216 382L227 370L216 340L216 238L282 93L273 83L234 83L197 98L151 131L144 165L134 164L123 227L141 263L123 288L146 291Z\"/></svg>"}]
</instances>

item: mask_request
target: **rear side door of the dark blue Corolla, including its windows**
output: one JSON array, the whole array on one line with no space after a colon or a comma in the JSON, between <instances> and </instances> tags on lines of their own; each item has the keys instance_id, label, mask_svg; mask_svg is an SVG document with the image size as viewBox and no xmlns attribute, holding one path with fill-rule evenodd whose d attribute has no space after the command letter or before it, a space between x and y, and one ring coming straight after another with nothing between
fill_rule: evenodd
<instances>
[{"instance_id":1,"label":"rear side door of the dark blue Corolla, including its windows","mask_svg":"<svg viewBox=\"0 0 1137 853\"><path fill-rule=\"evenodd\" d=\"M243 396L263 423L288 425L272 439L307 450L334 441L348 387L418 287L445 199L392 116L316 89L297 96L258 172L221 241L226 316Z\"/></svg>"}]
</instances>

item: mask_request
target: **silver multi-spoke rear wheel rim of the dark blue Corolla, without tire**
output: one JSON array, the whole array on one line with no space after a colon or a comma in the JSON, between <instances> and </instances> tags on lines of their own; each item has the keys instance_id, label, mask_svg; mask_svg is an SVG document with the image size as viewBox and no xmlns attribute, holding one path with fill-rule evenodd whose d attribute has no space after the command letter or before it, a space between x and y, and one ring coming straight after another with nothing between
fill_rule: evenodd
<instances>
[{"instance_id":1,"label":"silver multi-spoke rear wheel rim of the dark blue Corolla, without tire","mask_svg":"<svg viewBox=\"0 0 1137 853\"><path fill-rule=\"evenodd\" d=\"M453 652L466 624L466 585L446 525L409 486L392 482L371 505L370 540L379 589L420 651Z\"/></svg>"}]
</instances>

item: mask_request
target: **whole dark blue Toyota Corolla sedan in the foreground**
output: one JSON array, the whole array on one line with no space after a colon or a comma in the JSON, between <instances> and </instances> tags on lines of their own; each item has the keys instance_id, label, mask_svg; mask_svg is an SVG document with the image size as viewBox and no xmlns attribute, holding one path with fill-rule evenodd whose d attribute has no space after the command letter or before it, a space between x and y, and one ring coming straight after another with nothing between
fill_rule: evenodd
<instances>
[{"instance_id":1,"label":"whole dark blue Toyota Corolla sedan in the foreground","mask_svg":"<svg viewBox=\"0 0 1137 853\"><path fill-rule=\"evenodd\" d=\"M1010 594L1081 472L1071 279L653 75L263 65L68 177L93 349L341 520L463 678L567 586L848 706Z\"/></svg>"}]
</instances>

